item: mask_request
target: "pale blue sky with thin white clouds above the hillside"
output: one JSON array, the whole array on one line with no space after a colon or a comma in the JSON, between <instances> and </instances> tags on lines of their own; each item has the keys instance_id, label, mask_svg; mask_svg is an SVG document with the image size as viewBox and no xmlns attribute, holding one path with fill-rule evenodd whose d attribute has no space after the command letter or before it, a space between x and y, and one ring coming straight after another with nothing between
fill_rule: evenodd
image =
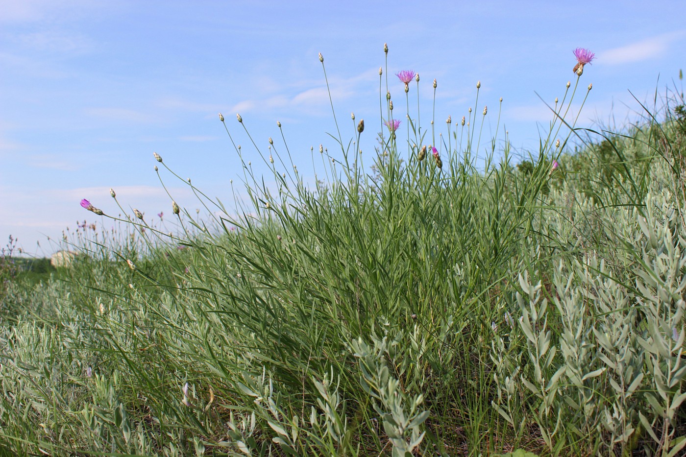
<instances>
[{"instance_id":1,"label":"pale blue sky with thin white clouds above the hillside","mask_svg":"<svg viewBox=\"0 0 686 457\"><path fill-rule=\"evenodd\" d=\"M576 47L596 54L582 75L582 87L590 82L593 90L578 126L622 126L641 110L628 91L652 104L656 88L664 95L666 86L681 87L684 12L683 0L0 0L0 244L13 235L28 253L49 255L58 245L47 237L60 240L77 220L110 225L79 205L88 198L119 213L110 187L146 218L171 214L153 152L209 196L230 201L229 182L238 184L241 168L219 112L246 160L255 156L257 174L267 170L235 115L263 150L269 137L284 150L281 121L311 180L310 147L335 149L319 52L343 137L353 135L354 112L365 119L360 145L368 154L381 124L383 43L394 113L406 112L394 73L418 71L429 127L436 78L437 129L445 130L448 115L454 121L469 107L489 106L482 149L495 134L499 97L500 126L515 152L536 148L551 119L536 93L549 103L562 97ZM200 206L180 181L162 176L180 204Z\"/></svg>"}]
</instances>

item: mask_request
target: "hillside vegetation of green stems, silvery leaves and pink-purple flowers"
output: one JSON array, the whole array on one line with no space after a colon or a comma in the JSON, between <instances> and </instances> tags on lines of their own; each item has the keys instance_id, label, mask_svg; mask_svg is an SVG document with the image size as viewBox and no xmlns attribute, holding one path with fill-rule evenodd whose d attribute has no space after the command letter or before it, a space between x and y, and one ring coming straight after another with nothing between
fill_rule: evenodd
<instances>
[{"instance_id":1,"label":"hillside vegetation of green stems, silvery leaves and pink-purple flowers","mask_svg":"<svg viewBox=\"0 0 686 457\"><path fill-rule=\"evenodd\" d=\"M171 194L173 226L83 200L119 231L75 239L65 280L3 298L25 306L0 328L0 452L679 455L678 111L569 152L585 141L569 107L592 88L593 54L575 55L517 167L507 137L482 143L480 82L462 120L425 129L419 75L386 62L367 130L332 103L315 179L281 123L265 150L220 115L242 165L233 207L159 154L209 220Z\"/></svg>"}]
</instances>

